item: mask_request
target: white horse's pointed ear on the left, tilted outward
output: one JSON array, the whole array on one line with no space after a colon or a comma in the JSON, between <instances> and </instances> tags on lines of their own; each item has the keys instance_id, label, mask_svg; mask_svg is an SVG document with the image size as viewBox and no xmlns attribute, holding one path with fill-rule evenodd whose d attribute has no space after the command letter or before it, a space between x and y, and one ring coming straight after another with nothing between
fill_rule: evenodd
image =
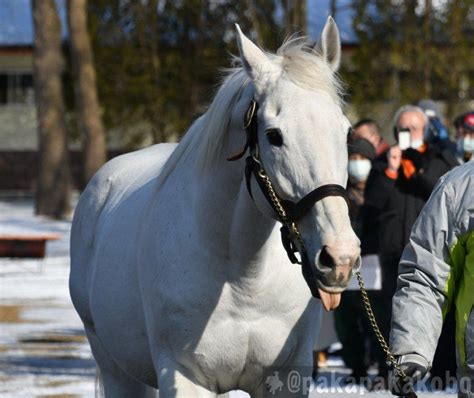
<instances>
[{"instance_id":1,"label":"white horse's pointed ear on the left, tilted outward","mask_svg":"<svg viewBox=\"0 0 474 398\"><path fill-rule=\"evenodd\" d=\"M235 24L235 29L242 65L254 82L261 80L265 74L274 70L274 65L265 53L242 33L238 24Z\"/></svg>"}]
</instances>

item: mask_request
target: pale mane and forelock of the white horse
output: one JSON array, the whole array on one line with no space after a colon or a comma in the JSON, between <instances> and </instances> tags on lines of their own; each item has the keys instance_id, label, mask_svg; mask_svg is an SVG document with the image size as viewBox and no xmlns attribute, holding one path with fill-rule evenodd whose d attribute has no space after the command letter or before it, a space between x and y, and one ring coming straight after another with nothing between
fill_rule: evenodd
<instances>
[{"instance_id":1,"label":"pale mane and forelock of the white horse","mask_svg":"<svg viewBox=\"0 0 474 398\"><path fill-rule=\"evenodd\" d=\"M267 56L281 66L282 77L304 89L326 94L340 106L343 104L344 91L338 75L316 50L308 46L306 38L290 38L276 54L267 53ZM223 143L230 130L233 108L245 88L251 84L240 58L233 57L233 60L237 66L225 71L223 83L208 110L191 125L163 166L158 177L159 185L191 150L197 151L196 167L202 172L222 157Z\"/></svg>"}]
</instances>

